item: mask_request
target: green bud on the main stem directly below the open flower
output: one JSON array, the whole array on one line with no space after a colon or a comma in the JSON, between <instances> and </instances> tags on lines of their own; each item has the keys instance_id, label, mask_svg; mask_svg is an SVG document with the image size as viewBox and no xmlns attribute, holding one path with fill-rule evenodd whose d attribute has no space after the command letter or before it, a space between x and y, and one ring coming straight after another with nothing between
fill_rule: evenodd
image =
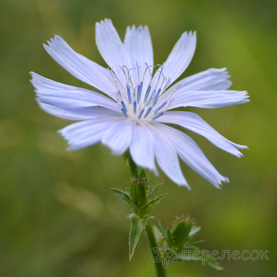
<instances>
[{"instance_id":1,"label":"green bud on the main stem directly below the open flower","mask_svg":"<svg viewBox=\"0 0 277 277\"><path fill-rule=\"evenodd\" d=\"M130 188L131 201L137 206L142 207L147 202L147 184L145 179L134 179Z\"/></svg>"}]
</instances>

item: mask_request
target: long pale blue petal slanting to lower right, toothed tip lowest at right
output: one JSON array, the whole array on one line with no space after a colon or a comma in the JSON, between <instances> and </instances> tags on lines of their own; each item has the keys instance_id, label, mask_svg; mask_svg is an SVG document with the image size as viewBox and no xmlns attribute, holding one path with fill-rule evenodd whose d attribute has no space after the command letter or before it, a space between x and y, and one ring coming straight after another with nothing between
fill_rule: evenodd
<instances>
[{"instance_id":1,"label":"long pale blue petal slanting to lower right, toothed tip lowest at right","mask_svg":"<svg viewBox=\"0 0 277 277\"><path fill-rule=\"evenodd\" d=\"M188 135L159 122L154 122L153 126L171 141L178 155L191 169L212 183L216 188L220 188L219 185L222 181L229 182L228 178L218 173L199 146Z\"/></svg>"}]
</instances>

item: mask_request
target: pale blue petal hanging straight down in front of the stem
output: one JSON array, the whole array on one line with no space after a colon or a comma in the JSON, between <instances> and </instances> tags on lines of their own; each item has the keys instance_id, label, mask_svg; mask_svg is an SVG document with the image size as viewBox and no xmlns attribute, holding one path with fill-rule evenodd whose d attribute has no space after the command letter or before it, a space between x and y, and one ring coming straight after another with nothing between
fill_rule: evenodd
<instances>
[{"instance_id":1,"label":"pale blue petal hanging straight down in front of the stem","mask_svg":"<svg viewBox=\"0 0 277 277\"><path fill-rule=\"evenodd\" d=\"M134 123L130 154L135 164L155 171L154 137L143 122Z\"/></svg>"}]
</instances>

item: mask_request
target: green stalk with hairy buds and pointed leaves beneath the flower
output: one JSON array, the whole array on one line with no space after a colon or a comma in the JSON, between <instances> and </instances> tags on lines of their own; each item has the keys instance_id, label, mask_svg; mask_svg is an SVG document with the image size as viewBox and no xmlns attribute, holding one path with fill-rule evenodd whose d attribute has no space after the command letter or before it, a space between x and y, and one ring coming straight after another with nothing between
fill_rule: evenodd
<instances>
[{"instance_id":1,"label":"green stalk with hairy buds and pointed leaves beneath the flower","mask_svg":"<svg viewBox=\"0 0 277 277\"><path fill-rule=\"evenodd\" d=\"M128 151L123 157L132 175L130 190L118 188L111 188L111 190L120 199L128 203L132 209L132 213L129 215L131 220L131 231L129 233L130 260L134 255L141 232L145 229L153 262L155 263L156 276L165 277L166 267L169 263L183 261L182 250L199 250L195 245L204 241L190 242L190 240L201 228L195 226L195 222L190 216L184 215L175 217L173 226L171 228L168 227L166 230L162 227L159 220L157 220L157 226L151 225L150 219L155 217L149 215L149 213L166 195L157 196L162 184L157 184L153 188L148 186L148 178L144 169L138 173L137 166ZM149 188L151 189L149 190ZM199 260L196 259L196 261ZM217 270L224 270L217 261L211 258L206 261L206 264Z\"/></svg>"}]
</instances>

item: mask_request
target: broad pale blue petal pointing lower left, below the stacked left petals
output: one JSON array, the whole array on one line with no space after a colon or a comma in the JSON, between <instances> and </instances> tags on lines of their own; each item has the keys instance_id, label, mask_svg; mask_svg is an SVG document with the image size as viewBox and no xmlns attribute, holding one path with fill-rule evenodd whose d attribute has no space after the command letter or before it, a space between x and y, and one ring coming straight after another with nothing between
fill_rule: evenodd
<instances>
[{"instance_id":1,"label":"broad pale blue petal pointing lower left, below the stacked left petals","mask_svg":"<svg viewBox=\"0 0 277 277\"><path fill-rule=\"evenodd\" d=\"M58 132L68 141L68 150L77 150L101 141L105 132L125 117L97 117L73 123Z\"/></svg>"}]
</instances>

